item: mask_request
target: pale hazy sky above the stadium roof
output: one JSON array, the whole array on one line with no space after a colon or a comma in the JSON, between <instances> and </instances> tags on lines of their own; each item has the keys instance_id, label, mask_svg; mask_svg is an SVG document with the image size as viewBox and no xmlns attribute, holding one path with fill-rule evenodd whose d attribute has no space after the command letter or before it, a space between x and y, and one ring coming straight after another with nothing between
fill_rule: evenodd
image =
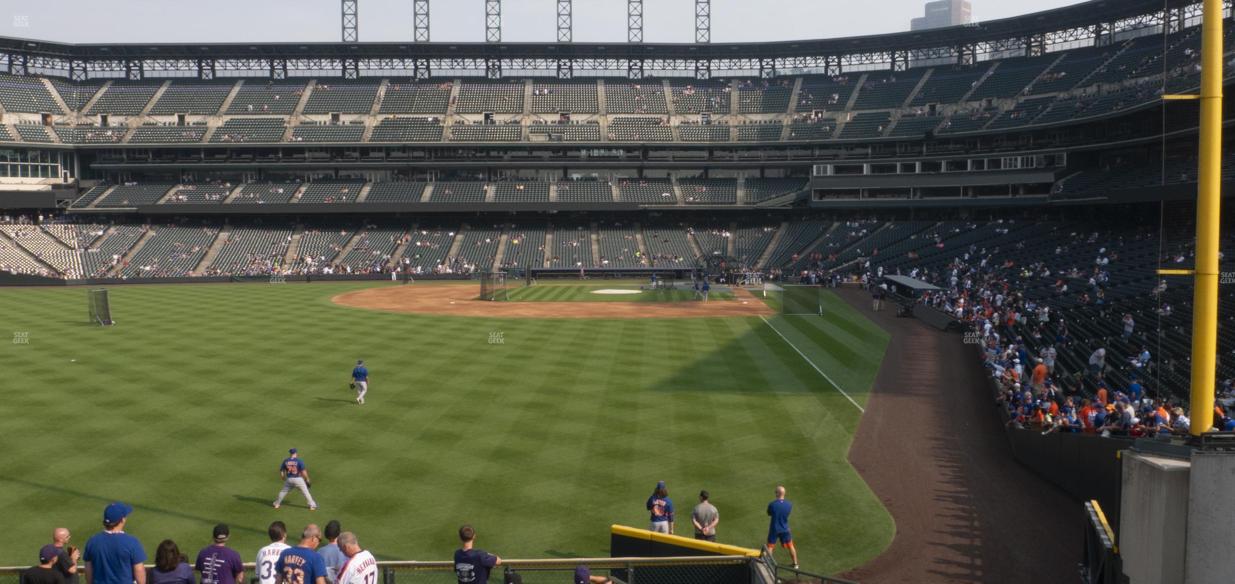
<instances>
[{"instance_id":1,"label":"pale hazy sky above the stadium roof","mask_svg":"<svg viewBox=\"0 0 1235 584\"><path fill-rule=\"evenodd\" d=\"M909 30L925 0L713 0L713 42ZM1078 0L973 0L977 21ZM484 41L484 0L432 0L432 41ZM505 42L553 42L555 0L503 0ZM625 42L625 0L576 0L576 42ZM412 38L411 0L359 0L361 41ZM333 42L340 0L0 0L0 36L74 43ZM694 42L694 0L645 0L645 42Z\"/></svg>"}]
</instances>

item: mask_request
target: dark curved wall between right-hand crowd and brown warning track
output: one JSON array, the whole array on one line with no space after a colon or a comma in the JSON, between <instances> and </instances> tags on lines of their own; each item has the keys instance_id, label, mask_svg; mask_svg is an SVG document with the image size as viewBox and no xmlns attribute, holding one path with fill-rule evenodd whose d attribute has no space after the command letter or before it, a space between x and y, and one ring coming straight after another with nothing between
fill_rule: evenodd
<instances>
[{"instance_id":1,"label":"dark curved wall between right-hand crowd and brown warning track","mask_svg":"<svg viewBox=\"0 0 1235 584\"><path fill-rule=\"evenodd\" d=\"M974 351L976 362L984 357L981 344ZM976 365L979 367L979 365ZM986 375L986 373L983 373ZM999 395L999 384L987 375L992 399ZM1082 501L1098 501L1102 512L1119 533L1119 510L1123 491L1123 451L1132 447L1129 438L1108 438L1092 433L1051 432L1008 427L1010 416L1004 407L995 407L1008 433L1013 457L1035 473L1055 483Z\"/></svg>"}]
</instances>

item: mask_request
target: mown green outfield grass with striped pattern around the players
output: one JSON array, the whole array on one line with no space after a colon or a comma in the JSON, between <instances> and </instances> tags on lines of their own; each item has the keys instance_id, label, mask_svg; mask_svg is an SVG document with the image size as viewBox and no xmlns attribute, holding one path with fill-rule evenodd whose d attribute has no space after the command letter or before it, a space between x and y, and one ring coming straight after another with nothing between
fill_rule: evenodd
<instances>
[{"instance_id":1,"label":"mown green outfield grass with striped pattern around the players","mask_svg":"<svg viewBox=\"0 0 1235 584\"><path fill-rule=\"evenodd\" d=\"M608 556L609 525L646 527L661 479L680 533L708 489L720 541L748 547L785 485L808 569L858 565L892 541L846 462L857 407L776 332L865 405L888 337L831 294L823 317L767 322L330 300L371 286L114 286L109 328L85 323L80 288L0 289L4 335L28 333L0 348L0 564L30 564L57 526L84 544L114 500L135 506L127 531L148 553L163 538L195 551L222 521L251 561L273 520L337 519L379 559L447 559L464 522L508 558ZM357 358L372 372L363 406L347 389ZM270 506L291 446L316 511L299 493Z\"/></svg>"}]
</instances>

